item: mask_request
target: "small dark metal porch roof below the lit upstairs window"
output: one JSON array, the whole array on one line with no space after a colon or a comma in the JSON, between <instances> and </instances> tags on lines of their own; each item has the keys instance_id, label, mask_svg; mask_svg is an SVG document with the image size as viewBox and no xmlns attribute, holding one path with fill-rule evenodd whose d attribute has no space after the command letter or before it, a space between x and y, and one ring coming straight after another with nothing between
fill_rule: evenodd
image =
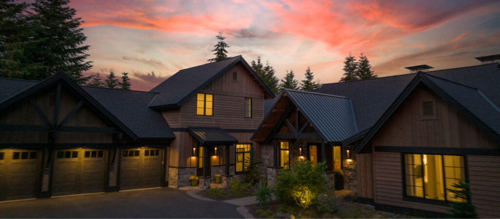
<instances>
[{"instance_id":1,"label":"small dark metal porch roof below the lit upstairs window","mask_svg":"<svg viewBox=\"0 0 500 219\"><path fill-rule=\"evenodd\" d=\"M233 144L238 139L219 127L187 127L187 131L201 144Z\"/></svg>"}]
</instances>

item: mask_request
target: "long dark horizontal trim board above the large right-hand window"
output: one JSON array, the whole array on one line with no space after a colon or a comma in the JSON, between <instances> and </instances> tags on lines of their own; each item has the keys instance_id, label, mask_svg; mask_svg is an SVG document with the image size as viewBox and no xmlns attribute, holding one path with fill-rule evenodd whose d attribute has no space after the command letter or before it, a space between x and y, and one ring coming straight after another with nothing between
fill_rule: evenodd
<instances>
[{"instance_id":1,"label":"long dark horizontal trim board above the large right-hand window","mask_svg":"<svg viewBox=\"0 0 500 219\"><path fill-rule=\"evenodd\" d=\"M374 146L374 147L376 152L500 156L500 149L488 149L488 148L409 147L409 146Z\"/></svg>"}]
</instances>

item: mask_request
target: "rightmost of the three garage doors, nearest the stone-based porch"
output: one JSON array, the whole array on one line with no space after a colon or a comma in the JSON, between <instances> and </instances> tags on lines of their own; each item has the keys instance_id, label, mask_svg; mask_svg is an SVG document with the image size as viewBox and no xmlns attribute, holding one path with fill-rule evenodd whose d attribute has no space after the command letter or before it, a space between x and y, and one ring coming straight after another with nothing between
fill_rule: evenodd
<instances>
[{"instance_id":1,"label":"rightmost of the three garage doors, nearest the stone-based porch","mask_svg":"<svg viewBox=\"0 0 500 219\"><path fill-rule=\"evenodd\" d=\"M162 152L160 148L121 150L120 190L159 187Z\"/></svg>"}]
</instances>

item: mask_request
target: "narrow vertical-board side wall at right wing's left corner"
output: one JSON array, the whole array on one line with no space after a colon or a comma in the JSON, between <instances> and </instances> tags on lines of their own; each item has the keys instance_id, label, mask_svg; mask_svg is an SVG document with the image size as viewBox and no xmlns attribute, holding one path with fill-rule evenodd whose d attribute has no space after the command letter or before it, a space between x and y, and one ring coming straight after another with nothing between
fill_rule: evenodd
<instances>
[{"instance_id":1,"label":"narrow vertical-board side wall at right wing's left corner","mask_svg":"<svg viewBox=\"0 0 500 219\"><path fill-rule=\"evenodd\" d=\"M371 154L359 153L355 155L357 161L357 196L373 198Z\"/></svg>"}]
</instances>

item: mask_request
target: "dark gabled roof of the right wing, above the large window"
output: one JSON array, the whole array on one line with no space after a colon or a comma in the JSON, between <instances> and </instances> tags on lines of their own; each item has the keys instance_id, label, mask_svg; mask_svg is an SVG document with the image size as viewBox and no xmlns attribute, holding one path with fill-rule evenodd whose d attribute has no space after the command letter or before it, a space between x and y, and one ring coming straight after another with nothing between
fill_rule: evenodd
<instances>
[{"instance_id":1,"label":"dark gabled roof of the right wing, above the large window","mask_svg":"<svg viewBox=\"0 0 500 219\"><path fill-rule=\"evenodd\" d=\"M481 91L470 86L419 72L380 116L378 121L369 129L355 148L356 153L361 152L364 146L419 84L427 86L463 116L475 123L492 139L500 143L500 110Z\"/></svg>"}]
</instances>

